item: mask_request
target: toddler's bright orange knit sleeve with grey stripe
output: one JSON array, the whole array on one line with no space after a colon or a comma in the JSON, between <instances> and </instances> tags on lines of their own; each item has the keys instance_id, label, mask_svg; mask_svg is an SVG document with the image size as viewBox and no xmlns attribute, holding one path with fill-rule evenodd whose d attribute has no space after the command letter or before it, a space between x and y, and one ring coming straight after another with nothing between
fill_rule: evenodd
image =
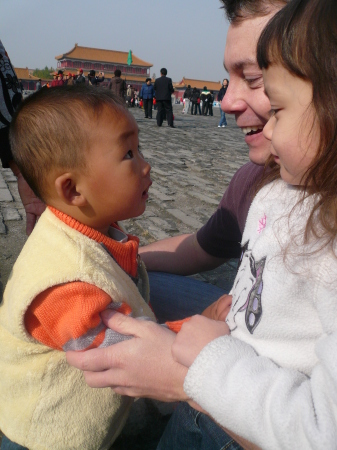
<instances>
[{"instance_id":1,"label":"toddler's bright orange knit sleeve with grey stripe","mask_svg":"<svg viewBox=\"0 0 337 450\"><path fill-rule=\"evenodd\" d=\"M111 302L106 292L88 283L74 281L53 286L30 304L25 327L37 341L57 350L98 347L106 330L99 313ZM127 304L116 306L117 311L131 313Z\"/></svg>"}]
</instances>

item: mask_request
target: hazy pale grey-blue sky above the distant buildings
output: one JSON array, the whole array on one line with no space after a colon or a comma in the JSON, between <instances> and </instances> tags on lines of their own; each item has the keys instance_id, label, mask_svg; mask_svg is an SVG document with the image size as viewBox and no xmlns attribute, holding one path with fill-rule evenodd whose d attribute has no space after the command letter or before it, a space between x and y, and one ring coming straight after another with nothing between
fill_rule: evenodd
<instances>
[{"instance_id":1,"label":"hazy pale grey-blue sky above the distant buildings","mask_svg":"<svg viewBox=\"0 0 337 450\"><path fill-rule=\"evenodd\" d=\"M75 44L132 50L183 76L218 81L228 22L219 0L0 0L0 40L14 67L56 67Z\"/></svg>"}]
</instances>

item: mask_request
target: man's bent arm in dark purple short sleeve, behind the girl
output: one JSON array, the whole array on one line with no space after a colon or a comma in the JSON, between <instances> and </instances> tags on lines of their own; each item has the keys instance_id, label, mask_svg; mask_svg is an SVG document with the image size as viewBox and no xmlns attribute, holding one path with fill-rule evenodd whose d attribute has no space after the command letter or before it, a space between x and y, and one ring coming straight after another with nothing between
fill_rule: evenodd
<instances>
[{"instance_id":1,"label":"man's bent arm in dark purple short sleeve, behind the girl","mask_svg":"<svg viewBox=\"0 0 337 450\"><path fill-rule=\"evenodd\" d=\"M238 258L241 235L252 200L252 187L263 167L248 163L230 182L208 222L196 233L175 236L140 248L148 270L191 275Z\"/></svg>"}]
</instances>

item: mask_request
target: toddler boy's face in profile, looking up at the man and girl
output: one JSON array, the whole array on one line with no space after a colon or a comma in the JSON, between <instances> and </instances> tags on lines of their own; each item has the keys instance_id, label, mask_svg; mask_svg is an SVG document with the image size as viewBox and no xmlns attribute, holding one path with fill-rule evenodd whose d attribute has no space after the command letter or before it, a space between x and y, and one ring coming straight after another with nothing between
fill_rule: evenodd
<instances>
[{"instance_id":1,"label":"toddler boy's face in profile, looking up at the man and girl","mask_svg":"<svg viewBox=\"0 0 337 450\"><path fill-rule=\"evenodd\" d=\"M151 166L139 151L138 126L131 114L104 108L87 150L85 194L93 228L140 216L152 184ZM83 187L83 185L82 185Z\"/></svg>"}]
</instances>

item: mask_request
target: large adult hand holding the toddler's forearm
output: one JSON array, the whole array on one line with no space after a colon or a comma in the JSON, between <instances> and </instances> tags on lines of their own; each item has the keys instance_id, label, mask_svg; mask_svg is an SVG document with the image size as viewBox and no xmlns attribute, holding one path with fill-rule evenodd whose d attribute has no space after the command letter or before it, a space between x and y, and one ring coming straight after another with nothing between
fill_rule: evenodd
<instances>
[{"instance_id":1,"label":"large adult hand holding the toddler's forearm","mask_svg":"<svg viewBox=\"0 0 337 450\"><path fill-rule=\"evenodd\" d=\"M110 386L131 397L188 400L183 390L187 369L172 358L174 333L114 311L101 316L108 327L134 338L106 348L67 352L68 363L84 371L89 386Z\"/></svg>"}]
</instances>

